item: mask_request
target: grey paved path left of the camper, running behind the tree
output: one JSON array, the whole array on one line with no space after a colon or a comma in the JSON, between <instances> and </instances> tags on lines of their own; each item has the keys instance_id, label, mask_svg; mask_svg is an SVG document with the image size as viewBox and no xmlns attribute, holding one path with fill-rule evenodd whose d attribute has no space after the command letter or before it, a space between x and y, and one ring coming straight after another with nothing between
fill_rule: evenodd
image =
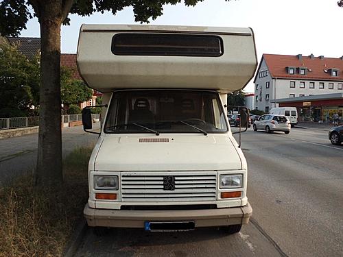
<instances>
[{"instance_id":1,"label":"grey paved path left of the camper, running behind the tree","mask_svg":"<svg viewBox=\"0 0 343 257\"><path fill-rule=\"evenodd\" d=\"M99 124L95 125L99 127ZM75 147L93 146L96 134L86 133L82 126L64 127L62 130L62 154L70 153ZM29 134L0 140L0 186L16 175L32 173L37 160L38 134Z\"/></svg>"}]
</instances>

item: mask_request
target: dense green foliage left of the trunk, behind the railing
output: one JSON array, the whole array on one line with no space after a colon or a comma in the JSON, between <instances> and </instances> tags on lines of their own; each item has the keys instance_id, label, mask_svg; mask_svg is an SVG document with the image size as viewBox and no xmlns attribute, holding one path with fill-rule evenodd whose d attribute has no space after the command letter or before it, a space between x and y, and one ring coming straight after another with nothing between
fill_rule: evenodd
<instances>
[{"instance_id":1,"label":"dense green foliage left of the trunk, behind the railing","mask_svg":"<svg viewBox=\"0 0 343 257\"><path fill-rule=\"evenodd\" d=\"M0 49L0 109L25 111L36 106L39 101L39 57L27 59L16 45L8 42L1 42Z\"/></svg>"}]
</instances>

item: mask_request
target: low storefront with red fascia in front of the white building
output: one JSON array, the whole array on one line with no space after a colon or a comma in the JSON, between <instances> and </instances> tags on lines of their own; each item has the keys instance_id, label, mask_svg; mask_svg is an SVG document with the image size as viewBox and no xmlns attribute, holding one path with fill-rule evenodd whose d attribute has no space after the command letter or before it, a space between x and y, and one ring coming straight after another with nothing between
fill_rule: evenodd
<instances>
[{"instance_id":1,"label":"low storefront with red fascia in front of the white building","mask_svg":"<svg viewBox=\"0 0 343 257\"><path fill-rule=\"evenodd\" d=\"M272 102L279 103L279 107L296 107L298 121L333 123L334 114L338 114L339 122L343 123L343 93L276 99Z\"/></svg>"}]
</instances>

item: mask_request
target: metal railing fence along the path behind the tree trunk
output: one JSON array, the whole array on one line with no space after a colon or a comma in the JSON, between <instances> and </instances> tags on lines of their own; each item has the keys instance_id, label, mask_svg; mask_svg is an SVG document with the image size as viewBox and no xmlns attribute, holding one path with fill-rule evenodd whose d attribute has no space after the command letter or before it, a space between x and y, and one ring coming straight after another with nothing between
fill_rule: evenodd
<instances>
[{"instance_id":1,"label":"metal railing fence along the path behind the tree trunk","mask_svg":"<svg viewBox=\"0 0 343 257\"><path fill-rule=\"evenodd\" d=\"M100 119L100 114L92 114L95 121ZM82 114L62 115L62 123L82 121ZM14 117L0 118L0 130L10 130L19 127L35 127L39 125L39 117Z\"/></svg>"}]
</instances>

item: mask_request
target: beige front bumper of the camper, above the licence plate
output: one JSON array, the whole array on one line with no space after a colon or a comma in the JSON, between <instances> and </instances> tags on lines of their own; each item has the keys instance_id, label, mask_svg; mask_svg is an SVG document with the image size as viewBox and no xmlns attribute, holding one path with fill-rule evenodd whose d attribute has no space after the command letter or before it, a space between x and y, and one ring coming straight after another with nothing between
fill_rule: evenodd
<instances>
[{"instance_id":1,"label":"beige front bumper of the camper, above the licence plate","mask_svg":"<svg viewBox=\"0 0 343 257\"><path fill-rule=\"evenodd\" d=\"M248 203L243 207L206 210L108 210L84 207L91 227L144 228L145 221L195 221L196 227L247 224L252 215Z\"/></svg>"}]
</instances>

